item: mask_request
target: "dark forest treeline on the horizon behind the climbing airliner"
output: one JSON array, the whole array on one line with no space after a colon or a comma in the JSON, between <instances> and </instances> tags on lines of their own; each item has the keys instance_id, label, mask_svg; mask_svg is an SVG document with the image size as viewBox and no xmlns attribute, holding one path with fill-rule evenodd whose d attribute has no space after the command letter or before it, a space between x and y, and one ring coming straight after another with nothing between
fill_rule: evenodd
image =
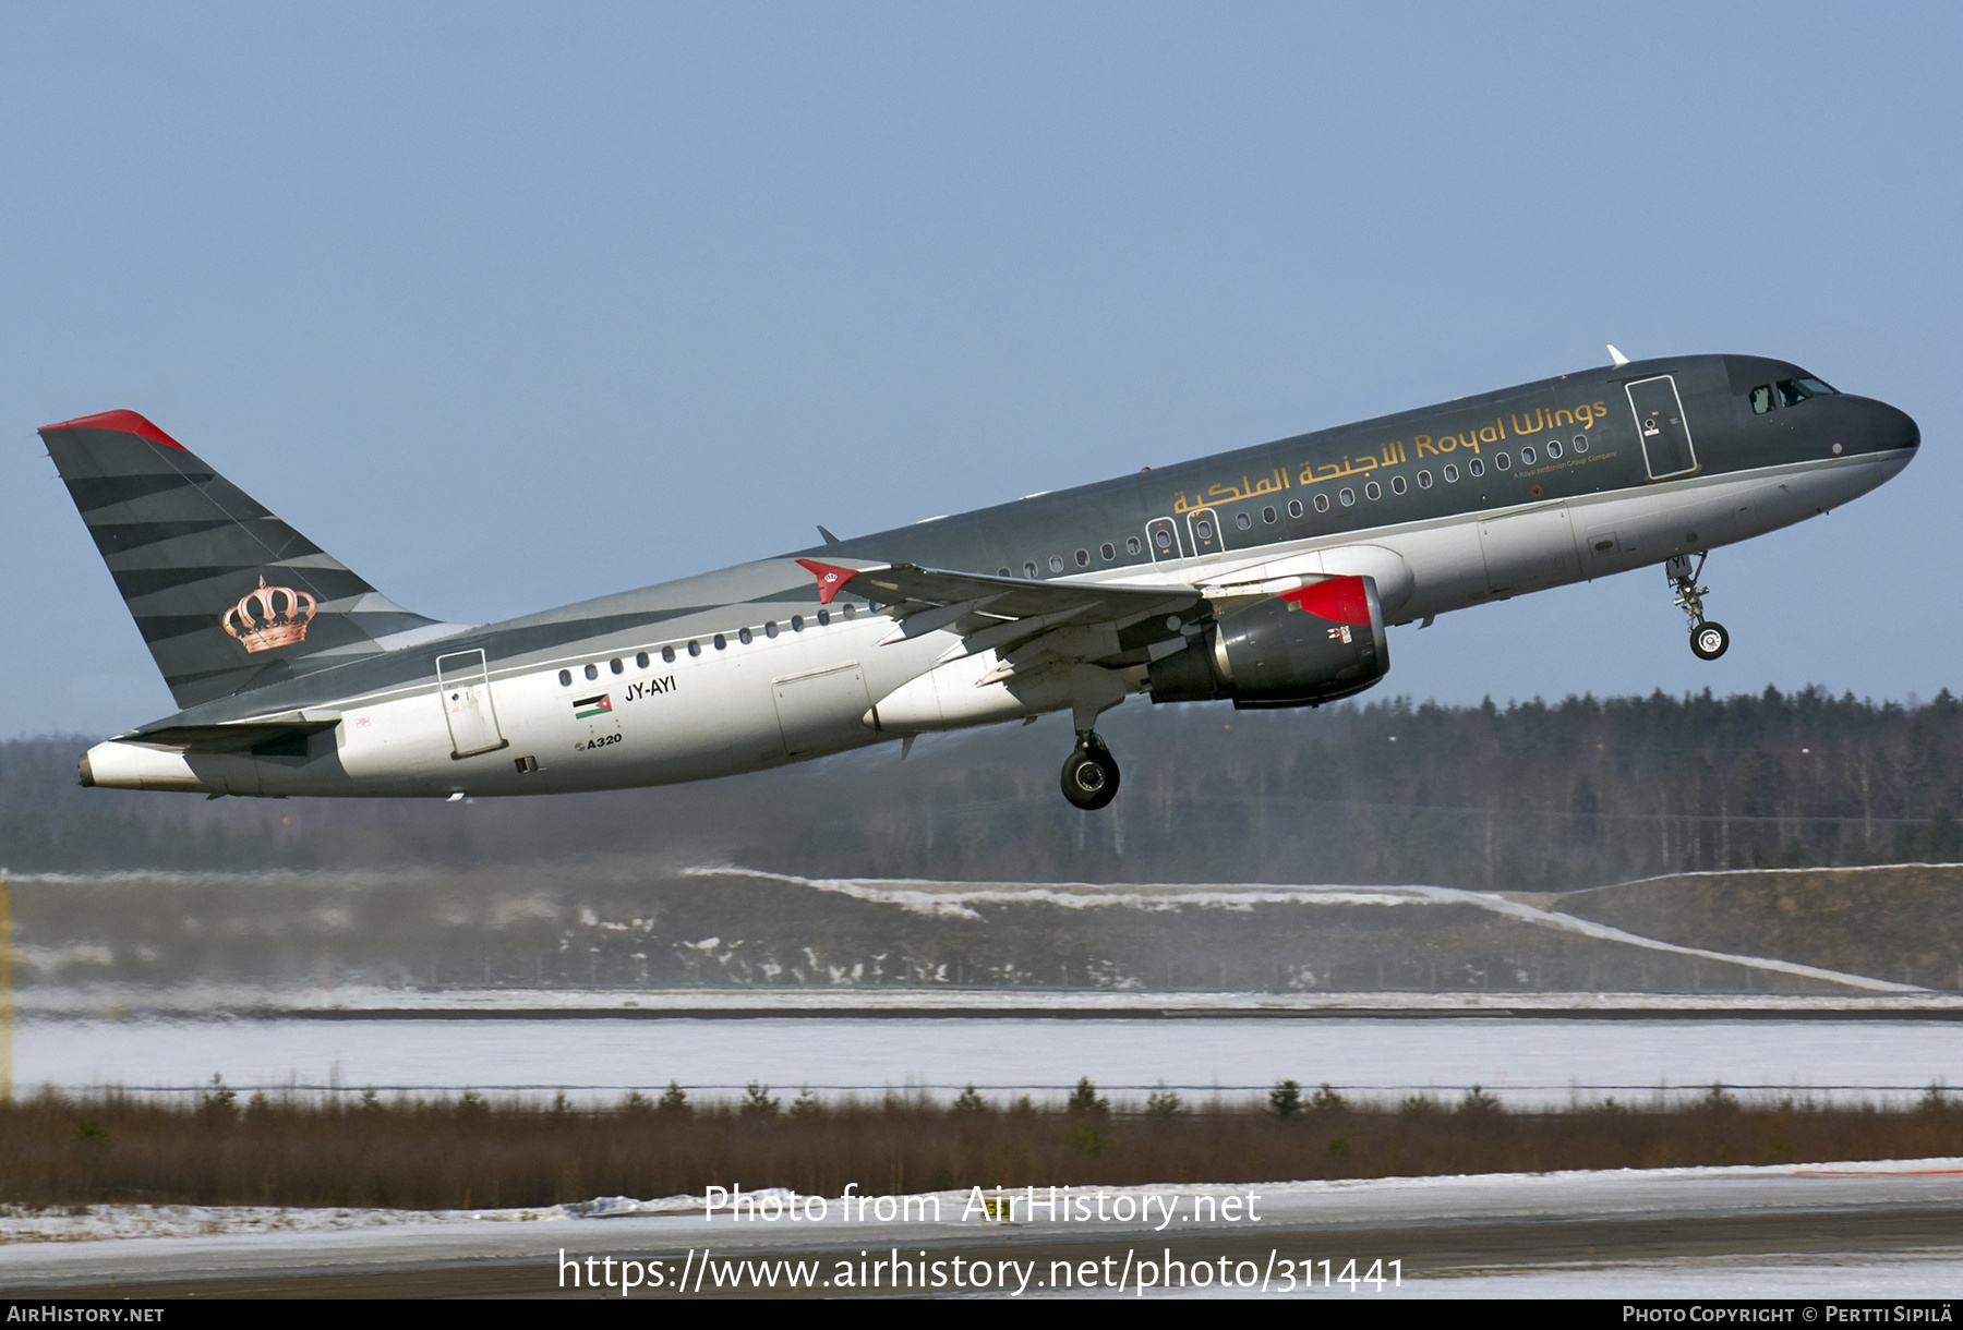
<instances>
[{"instance_id":1,"label":"dark forest treeline on the horizon behind the climbing airliner","mask_svg":"<svg viewBox=\"0 0 1963 1330\"><path fill-rule=\"evenodd\" d=\"M528 800L204 800L79 789L80 738L0 743L16 871L383 867L648 855L803 875L1435 883L1963 857L1963 702L1810 687L1235 712L1131 702L1117 802L1070 808L1068 722L689 787Z\"/></svg>"}]
</instances>

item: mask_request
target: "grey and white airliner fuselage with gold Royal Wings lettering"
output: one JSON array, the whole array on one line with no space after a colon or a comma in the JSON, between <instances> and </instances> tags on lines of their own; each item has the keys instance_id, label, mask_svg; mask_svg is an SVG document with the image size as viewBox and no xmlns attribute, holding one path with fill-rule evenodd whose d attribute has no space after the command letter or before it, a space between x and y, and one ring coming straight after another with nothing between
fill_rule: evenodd
<instances>
[{"instance_id":1,"label":"grey and white airliner fuselage with gold Royal Wings lettering","mask_svg":"<svg viewBox=\"0 0 1963 1330\"><path fill-rule=\"evenodd\" d=\"M1082 714L1068 685L1082 665L1052 669L1066 681L1056 687L983 702L997 698L983 671L1001 655L946 657L985 620L901 636L858 583L821 602L795 559L1199 588L1209 604L1356 575L1386 624L1407 624L1763 536L1914 457L1920 434L1892 406L1798 388L1782 400L1782 383L1818 381L1720 355L1594 369L436 632L190 704L90 749L84 783L275 796L599 791L1068 710L1072 696ZM1144 691L1194 632L1194 614L1178 620L1113 622L1107 641L1070 647L1070 659ZM960 706L911 706L903 691L936 669L968 671L958 683L978 696L944 681L940 694ZM298 720L279 742L234 751L183 742L267 718ZM177 738L143 738L163 732Z\"/></svg>"}]
</instances>

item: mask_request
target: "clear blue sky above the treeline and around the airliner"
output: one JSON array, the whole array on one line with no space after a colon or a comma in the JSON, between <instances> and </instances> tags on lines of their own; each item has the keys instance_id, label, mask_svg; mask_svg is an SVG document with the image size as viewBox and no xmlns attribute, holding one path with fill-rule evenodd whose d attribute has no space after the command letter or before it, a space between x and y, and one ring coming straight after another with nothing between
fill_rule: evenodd
<instances>
[{"instance_id":1,"label":"clear blue sky above the treeline and around the airliner","mask_svg":"<svg viewBox=\"0 0 1963 1330\"><path fill-rule=\"evenodd\" d=\"M128 406L510 614L1631 355L1896 483L1398 630L1476 702L1959 687L1957 6L0 10L0 736L171 710L33 428Z\"/></svg>"}]
</instances>

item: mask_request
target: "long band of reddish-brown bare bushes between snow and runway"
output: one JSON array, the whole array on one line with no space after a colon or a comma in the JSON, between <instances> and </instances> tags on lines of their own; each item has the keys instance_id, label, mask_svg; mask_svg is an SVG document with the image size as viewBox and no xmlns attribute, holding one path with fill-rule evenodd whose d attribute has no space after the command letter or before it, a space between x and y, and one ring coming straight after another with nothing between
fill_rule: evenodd
<instances>
[{"instance_id":1,"label":"long band of reddish-brown bare bushes between snow and runway","mask_svg":"<svg viewBox=\"0 0 1963 1330\"><path fill-rule=\"evenodd\" d=\"M801 1097L793 1112L275 1097L226 1114L122 1093L49 1093L0 1104L0 1201L457 1208L701 1195L730 1183L838 1195L846 1183L1260 1183L1963 1155L1963 1112L1720 1095L1722 1106L1449 1112L1435 1100L1406 1108L1331 1093L1284 1120L1268 1104L948 1112L901 1097Z\"/></svg>"}]
</instances>

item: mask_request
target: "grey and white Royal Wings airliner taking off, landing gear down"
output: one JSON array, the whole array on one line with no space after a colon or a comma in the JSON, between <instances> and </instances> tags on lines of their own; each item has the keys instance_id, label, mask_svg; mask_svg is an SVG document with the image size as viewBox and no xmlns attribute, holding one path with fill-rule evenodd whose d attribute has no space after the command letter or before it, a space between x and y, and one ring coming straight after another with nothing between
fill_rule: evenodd
<instances>
[{"instance_id":1,"label":"grey and white Royal Wings airliner taking off, landing gear down","mask_svg":"<svg viewBox=\"0 0 1963 1330\"><path fill-rule=\"evenodd\" d=\"M1627 361L1031 494L504 624L404 610L135 412L41 430L183 708L82 785L544 794L760 771L1068 710L1317 706L1388 626L1663 563L1690 647L1708 549L1875 488L1916 422L1784 361ZM1696 563L1692 563L1692 559Z\"/></svg>"}]
</instances>

